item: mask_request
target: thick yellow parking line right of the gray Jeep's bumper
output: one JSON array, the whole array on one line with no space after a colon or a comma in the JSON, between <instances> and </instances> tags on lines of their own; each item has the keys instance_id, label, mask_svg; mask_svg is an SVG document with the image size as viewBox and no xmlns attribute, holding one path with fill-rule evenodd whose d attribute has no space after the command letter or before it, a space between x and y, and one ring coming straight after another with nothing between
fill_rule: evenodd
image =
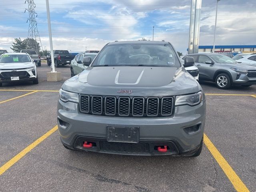
<instances>
[{"instance_id":1,"label":"thick yellow parking line right of the gray Jeep's bumper","mask_svg":"<svg viewBox=\"0 0 256 192\"><path fill-rule=\"evenodd\" d=\"M228 164L228 162L224 159L224 157L220 154L218 149L212 144L210 139L204 134L204 144L208 148L208 150L211 152L212 156L215 158L215 160L218 162L230 182L233 184L234 188L238 192L249 192L248 188L245 186L245 184L242 182L242 180L238 177L236 172L232 169L232 167Z\"/></svg>"}]
</instances>

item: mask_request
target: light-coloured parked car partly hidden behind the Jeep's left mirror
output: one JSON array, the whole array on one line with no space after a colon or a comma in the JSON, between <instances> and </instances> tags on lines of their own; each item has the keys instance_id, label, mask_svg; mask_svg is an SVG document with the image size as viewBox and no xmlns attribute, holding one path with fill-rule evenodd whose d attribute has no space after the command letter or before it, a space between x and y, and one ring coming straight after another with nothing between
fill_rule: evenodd
<instances>
[{"instance_id":1,"label":"light-coloured parked car partly hidden behind the Jeep's left mirror","mask_svg":"<svg viewBox=\"0 0 256 192\"><path fill-rule=\"evenodd\" d=\"M87 68L87 66L84 66L83 64L83 59L85 57L91 57L91 59L94 60L96 55L97 53L80 53L76 55L75 58L71 61L71 66L70 66L71 77L81 73L83 70Z\"/></svg>"}]
</instances>

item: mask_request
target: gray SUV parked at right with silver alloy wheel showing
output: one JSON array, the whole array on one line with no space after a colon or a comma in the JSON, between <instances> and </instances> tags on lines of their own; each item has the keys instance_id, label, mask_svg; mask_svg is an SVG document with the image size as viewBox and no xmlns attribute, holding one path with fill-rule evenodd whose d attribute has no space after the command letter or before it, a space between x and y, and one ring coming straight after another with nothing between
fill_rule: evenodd
<instances>
[{"instance_id":1,"label":"gray SUV parked at right with silver alloy wheel showing","mask_svg":"<svg viewBox=\"0 0 256 192\"><path fill-rule=\"evenodd\" d=\"M256 84L256 67L238 63L222 54L190 54L199 70L199 79L215 82L220 89L232 85L251 86ZM185 57L186 58L186 57Z\"/></svg>"}]
</instances>

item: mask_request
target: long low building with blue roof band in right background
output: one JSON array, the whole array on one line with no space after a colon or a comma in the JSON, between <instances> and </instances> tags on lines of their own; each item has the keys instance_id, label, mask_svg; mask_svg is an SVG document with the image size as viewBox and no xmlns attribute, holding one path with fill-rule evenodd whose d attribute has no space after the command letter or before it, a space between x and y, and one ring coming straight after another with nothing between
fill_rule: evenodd
<instances>
[{"instance_id":1,"label":"long low building with blue roof band in right background","mask_svg":"<svg viewBox=\"0 0 256 192\"><path fill-rule=\"evenodd\" d=\"M198 52L213 52L212 45L199 46ZM215 52L217 53L256 53L256 45L216 45Z\"/></svg>"}]
</instances>

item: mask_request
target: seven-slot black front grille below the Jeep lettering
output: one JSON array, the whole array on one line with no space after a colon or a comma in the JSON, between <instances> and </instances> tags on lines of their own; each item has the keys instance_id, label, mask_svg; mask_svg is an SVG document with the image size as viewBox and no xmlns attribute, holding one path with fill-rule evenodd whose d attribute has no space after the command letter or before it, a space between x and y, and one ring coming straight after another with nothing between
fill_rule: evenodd
<instances>
[{"instance_id":1,"label":"seven-slot black front grille below the Jeep lettering","mask_svg":"<svg viewBox=\"0 0 256 192\"><path fill-rule=\"evenodd\" d=\"M80 112L102 116L171 116L173 97L132 97L80 95Z\"/></svg>"}]
</instances>

